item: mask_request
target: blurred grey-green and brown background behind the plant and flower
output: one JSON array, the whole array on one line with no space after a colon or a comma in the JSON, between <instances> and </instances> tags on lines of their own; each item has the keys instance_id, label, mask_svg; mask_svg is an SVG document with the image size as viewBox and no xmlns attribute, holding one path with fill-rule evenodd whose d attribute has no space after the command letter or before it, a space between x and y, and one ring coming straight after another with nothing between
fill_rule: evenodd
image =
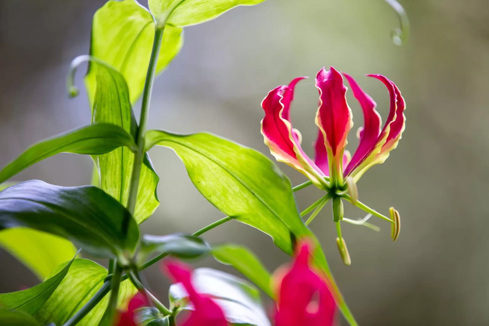
<instances>
[{"instance_id":1,"label":"blurred grey-green and brown background behind the plant and flower","mask_svg":"<svg viewBox=\"0 0 489 326\"><path fill-rule=\"evenodd\" d=\"M143 2L144 3L144 2ZM335 244L330 209L311 224L360 325L488 325L489 1L403 0L411 38L391 42L395 12L382 0L267 0L239 7L218 19L185 28L185 44L155 84L150 128L181 133L211 131L260 152L260 102L268 90L297 76L314 77L333 65L356 77L386 117L388 94L381 73L400 87L407 124L399 147L365 174L360 199L387 214L400 212L402 230L393 243L382 230L345 224L352 257L344 266ZM32 143L89 123L85 94L67 98L70 61L89 51L91 17L104 0L0 1L0 165ZM296 89L294 127L311 156L317 90L312 80ZM77 76L82 85L82 76ZM361 110L349 94L357 144ZM139 103L135 105L136 115ZM150 156L161 181L161 205L143 232L192 233L222 217L190 182L168 149ZM77 186L89 184L88 156L60 154L17 175ZM279 163L292 183L302 174ZM313 187L296 193L301 209L321 196ZM346 205L346 216L363 212ZM205 234L212 242L250 247L269 270L289 260L268 236L230 221ZM228 272L212 260L196 263ZM0 249L0 292L39 281ZM144 272L160 298L168 281L156 266Z\"/></svg>"}]
</instances>

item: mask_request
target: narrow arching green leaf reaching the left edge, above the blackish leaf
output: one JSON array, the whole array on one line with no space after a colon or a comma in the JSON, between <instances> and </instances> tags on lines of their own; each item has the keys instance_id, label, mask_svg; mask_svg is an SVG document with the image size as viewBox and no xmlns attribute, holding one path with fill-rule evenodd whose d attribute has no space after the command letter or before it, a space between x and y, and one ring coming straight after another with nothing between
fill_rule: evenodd
<instances>
[{"instance_id":1,"label":"narrow arching green leaf reaching the left edge, above the blackish leaf","mask_svg":"<svg viewBox=\"0 0 489 326\"><path fill-rule=\"evenodd\" d=\"M76 154L104 154L127 146L136 151L133 137L118 126L98 123L43 140L32 145L0 172L0 182L4 182L29 166L61 152ZM126 149L126 151L129 151Z\"/></svg>"}]
</instances>

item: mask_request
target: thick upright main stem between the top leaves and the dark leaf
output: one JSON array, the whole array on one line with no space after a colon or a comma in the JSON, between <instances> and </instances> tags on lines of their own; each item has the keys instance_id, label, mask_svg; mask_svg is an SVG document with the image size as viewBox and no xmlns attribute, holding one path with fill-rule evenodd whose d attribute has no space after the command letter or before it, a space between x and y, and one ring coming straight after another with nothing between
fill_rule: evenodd
<instances>
[{"instance_id":1,"label":"thick upright main stem between the top leaves and the dark leaf","mask_svg":"<svg viewBox=\"0 0 489 326\"><path fill-rule=\"evenodd\" d=\"M159 50L161 47L161 40L163 38L163 31L165 26L156 28L155 40L153 42L153 49L151 50L150 63L148 65L148 72L146 74L146 81L144 83L143 90L143 102L141 104L141 115L139 118L139 127L136 131L136 145L138 151L134 154L133 174L131 175L131 183L129 188L129 199L127 209L131 214L134 213L136 207L137 190L139 186L139 177L141 175L141 166L143 164L144 157L144 133L146 132L146 124L148 122L148 115L150 109L151 92L153 90L153 83L155 81L156 63L158 62Z\"/></svg>"}]
</instances>

